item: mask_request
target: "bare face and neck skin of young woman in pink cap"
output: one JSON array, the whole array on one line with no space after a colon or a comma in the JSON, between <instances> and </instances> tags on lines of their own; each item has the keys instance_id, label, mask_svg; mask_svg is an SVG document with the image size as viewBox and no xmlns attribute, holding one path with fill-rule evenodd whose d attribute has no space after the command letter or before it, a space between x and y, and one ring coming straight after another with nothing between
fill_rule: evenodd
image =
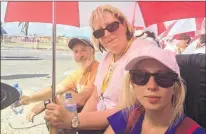
<instances>
[{"instance_id":1,"label":"bare face and neck skin of young woman in pink cap","mask_svg":"<svg viewBox=\"0 0 206 134\"><path fill-rule=\"evenodd\" d=\"M168 72L170 71L166 66L154 59L142 60L136 66L138 70L143 72ZM133 84L136 90L136 97L140 104L145 109L145 117L142 124L141 134L164 134L170 125L172 116L172 95L173 87L162 88L159 87L154 77L150 77L148 83L143 86ZM148 96L158 97L157 103L151 103ZM149 128L149 129L148 129ZM111 127L107 129L105 134L113 134Z\"/></svg>"}]
</instances>

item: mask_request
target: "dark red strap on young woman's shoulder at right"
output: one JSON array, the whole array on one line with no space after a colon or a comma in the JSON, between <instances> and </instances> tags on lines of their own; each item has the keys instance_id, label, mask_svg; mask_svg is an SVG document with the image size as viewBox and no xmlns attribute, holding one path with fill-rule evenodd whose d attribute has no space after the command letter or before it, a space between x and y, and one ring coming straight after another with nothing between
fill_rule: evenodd
<instances>
[{"instance_id":1,"label":"dark red strap on young woman's shoulder at right","mask_svg":"<svg viewBox=\"0 0 206 134\"><path fill-rule=\"evenodd\" d=\"M200 126L195 121L186 117L177 127L175 134L192 134L192 132L198 127Z\"/></svg>"}]
</instances>

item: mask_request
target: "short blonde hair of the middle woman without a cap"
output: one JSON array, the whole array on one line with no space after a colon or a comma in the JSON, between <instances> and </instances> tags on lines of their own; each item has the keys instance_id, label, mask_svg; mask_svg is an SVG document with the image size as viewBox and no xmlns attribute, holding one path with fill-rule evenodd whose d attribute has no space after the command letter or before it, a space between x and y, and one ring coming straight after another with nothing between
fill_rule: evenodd
<instances>
[{"instance_id":1,"label":"short blonde hair of the middle woman without a cap","mask_svg":"<svg viewBox=\"0 0 206 134\"><path fill-rule=\"evenodd\" d=\"M120 21L120 23L126 24L126 36L127 40L130 40L133 37L134 33L133 26L128 22L127 18L119 9L110 5L100 5L92 12L90 16L90 26L92 27L92 32L94 32L94 24L96 23L95 21L99 18L102 18L105 12L111 13L115 18ZM99 48L101 52L106 51L106 49L102 46L99 40L93 36L93 34L91 35L91 41L97 46L97 48Z\"/></svg>"}]
</instances>

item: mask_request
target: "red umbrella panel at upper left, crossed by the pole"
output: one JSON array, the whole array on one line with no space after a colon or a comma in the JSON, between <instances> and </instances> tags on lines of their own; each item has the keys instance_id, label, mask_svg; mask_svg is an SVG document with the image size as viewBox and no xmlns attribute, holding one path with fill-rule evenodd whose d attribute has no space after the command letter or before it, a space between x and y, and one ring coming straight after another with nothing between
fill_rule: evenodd
<instances>
[{"instance_id":1,"label":"red umbrella panel at upper left, crossed by the pole","mask_svg":"<svg viewBox=\"0 0 206 134\"><path fill-rule=\"evenodd\" d=\"M79 26L78 2L56 2L56 23ZM5 22L52 22L52 2L8 2Z\"/></svg>"}]
</instances>

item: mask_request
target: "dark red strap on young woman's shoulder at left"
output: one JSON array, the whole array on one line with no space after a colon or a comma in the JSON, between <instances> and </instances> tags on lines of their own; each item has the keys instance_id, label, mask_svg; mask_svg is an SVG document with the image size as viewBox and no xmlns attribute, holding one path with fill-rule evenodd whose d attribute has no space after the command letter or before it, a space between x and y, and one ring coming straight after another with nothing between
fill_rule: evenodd
<instances>
[{"instance_id":1,"label":"dark red strap on young woman's shoulder at left","mask_svg":"<svg viewBox=\"0 0 206 134\"><path fill-rule=\"evenodd\" d=\"M130 134L132 127L139 120L143 112L144 110L141 107L138 107L129 113L127 127L126 127L126 134Z\"/></svg>"}]
</instances>

